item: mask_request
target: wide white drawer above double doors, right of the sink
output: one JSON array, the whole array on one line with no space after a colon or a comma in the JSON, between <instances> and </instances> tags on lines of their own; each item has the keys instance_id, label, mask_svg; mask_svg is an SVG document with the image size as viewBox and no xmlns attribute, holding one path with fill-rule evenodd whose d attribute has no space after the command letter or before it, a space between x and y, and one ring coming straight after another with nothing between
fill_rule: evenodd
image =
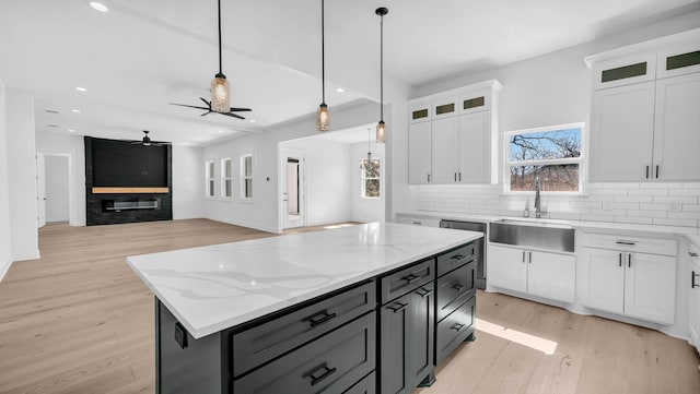
<instances>
[{"instance_id":1,"label":"wide white drawer above double doors, right of the sink","mask_svg":"<svg viewBox=\"0 0 700 394\"><path fill-rule=\"evenodd\" d=\"M584 247L623 250L652 254L677 254L675 239L648 238L633 235L608 235L584 232L581 239Z\"/></svg>"}]
</instances>

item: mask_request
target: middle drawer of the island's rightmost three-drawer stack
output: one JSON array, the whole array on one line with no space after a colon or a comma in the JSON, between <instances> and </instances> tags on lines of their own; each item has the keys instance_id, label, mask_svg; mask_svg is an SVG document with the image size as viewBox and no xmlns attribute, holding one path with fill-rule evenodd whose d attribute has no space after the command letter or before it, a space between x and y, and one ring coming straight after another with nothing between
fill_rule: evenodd
<instances>
[{"instance_id":1,"label":"middle drawer of the island's rightmost three-drawer stack","mask_svg":"<svg viewBox=\"0 0 700 394\"><path fill-rule=\"evenodd\" d=\"M472 260L438 278L438 321L474 297L476 294L475 267L476 262Z\"/></svg>"}]
</instances>

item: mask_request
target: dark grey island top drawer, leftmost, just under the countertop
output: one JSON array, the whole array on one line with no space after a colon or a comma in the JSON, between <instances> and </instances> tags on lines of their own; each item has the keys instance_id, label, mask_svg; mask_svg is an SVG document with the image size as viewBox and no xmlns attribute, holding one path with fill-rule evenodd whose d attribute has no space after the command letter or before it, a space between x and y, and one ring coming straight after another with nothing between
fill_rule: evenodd
<instances>
[{"instance_id":1,"label":"dark grey island top drawer, leftmost, just under the countertop","mask_svg":"<svg viewBox=\"0 0 700 394\"><path fill-rule=\"evenodd\" d=\"M376 305L374 282L254 326L233 336L237 377L369 312Z\"/></svg>"}]
</instances>

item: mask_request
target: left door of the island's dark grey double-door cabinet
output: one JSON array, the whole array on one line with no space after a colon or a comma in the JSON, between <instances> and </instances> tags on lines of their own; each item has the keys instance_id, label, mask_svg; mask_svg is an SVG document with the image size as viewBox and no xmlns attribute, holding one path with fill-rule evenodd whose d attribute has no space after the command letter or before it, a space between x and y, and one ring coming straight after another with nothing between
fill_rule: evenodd
<instances>
[{"instance_id":1,"label":"left door of the island's dark grey double-door cabinet","mask_svg":"<svg viewBox=\"0 0 700 394\"><path fill-rule=\"evenodd\" d=\"M381 318L381 393L410 393L412 380L406 374L406 361L410 355L406 350L413 344L412 308L413 294L399 297L382 307Z\"/></svg>"}]
</instances>

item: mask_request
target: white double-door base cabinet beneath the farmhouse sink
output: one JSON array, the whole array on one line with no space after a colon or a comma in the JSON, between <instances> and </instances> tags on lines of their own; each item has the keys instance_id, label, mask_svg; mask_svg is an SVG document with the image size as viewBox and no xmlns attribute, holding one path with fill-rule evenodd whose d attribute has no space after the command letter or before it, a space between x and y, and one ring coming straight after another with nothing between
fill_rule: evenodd
<instances>
[{"instance_id":1,"label":"white double-door base cabinet beneath the farmhouse sink","mask_svg":"<svg viewBox=\"0 0 700 394\"><path fill-rule=\"evenodd\" d=\"M489 285L562 302L574 301L576 258L489 243Z\"/></svg>"}]
</instances>

